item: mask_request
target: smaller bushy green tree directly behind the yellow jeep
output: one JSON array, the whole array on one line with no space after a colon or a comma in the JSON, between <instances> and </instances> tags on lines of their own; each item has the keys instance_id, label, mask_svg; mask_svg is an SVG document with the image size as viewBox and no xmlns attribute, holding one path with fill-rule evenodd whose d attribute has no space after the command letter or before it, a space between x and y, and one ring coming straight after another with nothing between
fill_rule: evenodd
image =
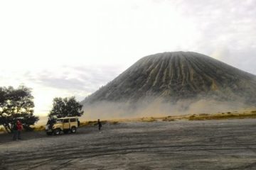
<instances>
[{"instance_id":1,"label":"smaller bushy green tree directly behind the yellow jeep","mask_svg":"<svg viewBox=\"0 0 256 170\"><path fill-rule=\"evenodd\" d=\"M54 98L53 108L48 115L50 118L57 116L57 118L81 116L83 114L82 105L75 100L75 96L70 98Z\"/></svg>"}]
</instances>

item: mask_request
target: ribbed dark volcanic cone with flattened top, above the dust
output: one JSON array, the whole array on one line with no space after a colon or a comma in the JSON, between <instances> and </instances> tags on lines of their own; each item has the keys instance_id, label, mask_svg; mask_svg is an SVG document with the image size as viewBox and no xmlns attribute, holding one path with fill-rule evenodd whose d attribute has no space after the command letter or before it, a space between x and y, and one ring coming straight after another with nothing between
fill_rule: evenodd
<instances>
[{"instance_id":1,"label":"ribbed dark volcanic cone with flattened top, above the dust","mask_svg":"<svg viewBox=\"0 0 256 170\"><path fill-rule=\"evenodd\" d=\"M256 76L196 52L164 52L143 57L82 104L136 103L213 98L256 103Z\"/></svg>"}]
</instances>

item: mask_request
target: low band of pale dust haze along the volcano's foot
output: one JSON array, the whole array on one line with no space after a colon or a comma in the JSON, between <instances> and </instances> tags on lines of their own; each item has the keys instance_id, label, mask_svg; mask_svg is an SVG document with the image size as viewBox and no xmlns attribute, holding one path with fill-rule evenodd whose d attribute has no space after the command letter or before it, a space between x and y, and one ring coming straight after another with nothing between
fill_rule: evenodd
<instances>
[{"instance_id":1,"label":"low band of pale dust haze along the volcano's foot","mask_svg":"<svg viewBox=\"0 0 256 170\"><path fill-rule=\"evenodd\" d=\"M99 101L84 106L82 120L104 120L187 115L198 113L223 113L244 111L249 108L244 101L217 101L215 99L181 100L176 103L157 98L154 100L129 102Z\"/></svg>"}]
</instances>

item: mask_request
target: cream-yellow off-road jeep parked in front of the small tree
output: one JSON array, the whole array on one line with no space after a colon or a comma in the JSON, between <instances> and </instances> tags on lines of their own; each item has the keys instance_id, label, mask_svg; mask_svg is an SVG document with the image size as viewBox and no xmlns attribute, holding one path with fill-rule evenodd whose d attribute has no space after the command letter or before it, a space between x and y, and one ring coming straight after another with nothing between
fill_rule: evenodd
<instances>
[{"instance_id":1,"label":"cream-yellow off-road jeep parked in front of the small tree","mask_svg":"<svg viewBox=\"0 0 256 170\"><path fill-rule=\"evenodd\" d=\"M46 125L47 135L60 135L60 132L75 133L79 127L79 120L76 117L58 118L56 120L49 120Z\"/></svg>"}]
</instances>

